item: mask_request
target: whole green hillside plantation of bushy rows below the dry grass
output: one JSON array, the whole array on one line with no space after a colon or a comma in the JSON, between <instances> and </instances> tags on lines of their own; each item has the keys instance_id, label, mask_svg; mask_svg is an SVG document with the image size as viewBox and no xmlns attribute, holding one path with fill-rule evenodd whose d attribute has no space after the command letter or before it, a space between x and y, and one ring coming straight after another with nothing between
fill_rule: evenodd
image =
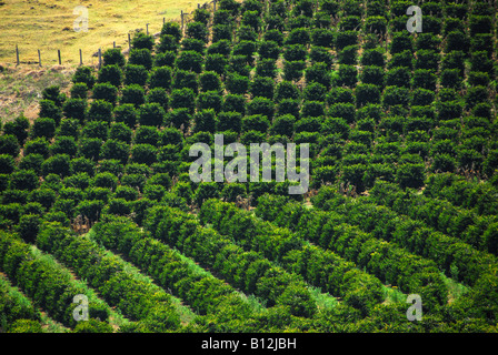
<instances>
[{"instance_id":1,"label":"whole green hillside plantation of bushy rows below the dry grass","mask_svg":"<svg viewBox=\"0 0 498 355\"><path fill-rule=\"evenodd\" d=\"M219 0L43 88L1 125L0 327L496 332L495 3L420 3L421 32L409 6ZM277 154L192 181L215 134L309 144L308 191Z\"/></svg>"}]
</instances>

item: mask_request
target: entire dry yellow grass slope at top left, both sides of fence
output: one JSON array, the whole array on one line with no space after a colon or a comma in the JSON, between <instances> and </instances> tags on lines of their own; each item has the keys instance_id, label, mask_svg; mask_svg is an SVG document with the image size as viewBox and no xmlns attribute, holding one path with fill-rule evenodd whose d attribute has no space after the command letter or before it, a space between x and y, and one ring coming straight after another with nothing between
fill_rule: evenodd
<instances>
[{"instance_id":1,"label":"entire dry yellow grass slope at top left, both sides of fence","mask_svg":"<svg viewBox=\"0 0 498 355\"><path fill-rule=\"evenodd\" d=\"M200 0L200 3L205 1ZM38 101L47 85L69 91L70 78L79 64L79 50L86 65L97 65L92 57L113 45L128 48L128 33L146 30L157 33L166 21L179 20L180 12L191 12L196 0L0 0L0 121L19 114L38 115ZM88 8L88 32L76 32L77 6ZM20 65L16 67L16 45ZM38 50L42 68L38 67ZM61 51L62 65L58 65Z\"/></svg>"}]
</instances>

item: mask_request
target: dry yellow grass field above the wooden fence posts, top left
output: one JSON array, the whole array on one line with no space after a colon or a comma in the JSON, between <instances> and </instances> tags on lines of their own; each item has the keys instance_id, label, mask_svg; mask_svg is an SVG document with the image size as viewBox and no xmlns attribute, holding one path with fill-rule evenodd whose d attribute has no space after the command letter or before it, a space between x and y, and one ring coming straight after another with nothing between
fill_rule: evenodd
<instances>
[{"instance_id":1,"label":"dry yellow grass field above the wooden fence posts, top left","mask_svg":"<svg viewBox=\"0 0 498 355\"><path fill-rule=\"evenodd\" d=\"M128 45L128 33L138 29L157 33L162 19L180 18L180 11L197 8L196 0L0 0L0 63L16 63L16 44L21 63L38 63L41 51L43 65L58 63L57 50L61 51L63 65L79 64L79 50L83 63L96 64L92 57L99 48ZM88 32L76 32L73 14L77 6L88 9Z\"/></svg>"}]
</instances>

